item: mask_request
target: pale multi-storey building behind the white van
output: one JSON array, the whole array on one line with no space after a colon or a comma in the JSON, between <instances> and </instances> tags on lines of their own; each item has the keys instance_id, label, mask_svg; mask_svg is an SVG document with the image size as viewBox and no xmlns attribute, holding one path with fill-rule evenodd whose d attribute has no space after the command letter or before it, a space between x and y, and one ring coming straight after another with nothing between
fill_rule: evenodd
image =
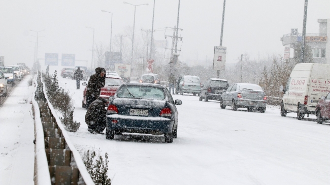
<instances>
[{"instance_id":1,"label":"pale multi-storey building behind the white van","mask_svg":"<svg viewBox=\"0 0 330 185\"><path fill-rule=\"evenodd\" d=\"M330 42L327 39L330 36L330 19L317 19L317 22L320 23L319 34L306 34L305 44L312 48L315 63L330 64ZM284 58L292 58L292 48L302 42L302 34L298 33L298 28L293 28L290 34L283 35L281 41L285 46Z\"/></svg>"}]
</instances>

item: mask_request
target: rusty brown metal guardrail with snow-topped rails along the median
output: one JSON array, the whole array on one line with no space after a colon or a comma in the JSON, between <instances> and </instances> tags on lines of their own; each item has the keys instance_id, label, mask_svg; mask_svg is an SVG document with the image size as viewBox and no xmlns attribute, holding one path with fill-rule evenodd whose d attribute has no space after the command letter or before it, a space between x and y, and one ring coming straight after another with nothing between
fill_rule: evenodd
<instances>
[{"instance_id":1,"label":"rusty brown metal guardrail with snow-topped rails along the median","mask_svg":"<svg viewBox=\"0 0 330 185\"><path fill-rule=\"evenodd\" d=\"M35 184L94 184L48 100L40 73L35 84L31 100L35 120Z\"/></svg>"}]
</instances>

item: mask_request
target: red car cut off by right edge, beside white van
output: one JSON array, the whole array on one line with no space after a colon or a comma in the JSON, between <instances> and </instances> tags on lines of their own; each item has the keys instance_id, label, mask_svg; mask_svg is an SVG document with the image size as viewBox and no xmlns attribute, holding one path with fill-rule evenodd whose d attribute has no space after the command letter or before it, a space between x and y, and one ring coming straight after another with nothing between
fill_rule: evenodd
<instances>
[{"instance_id":1,"label":"red car cut off by right edge, beside white van","mask_svg":"<svg viewBox=\"0 0 330 185\"><path fill-rule=\"evenodd\" d=\"M330 93L326 97L321 96L321 100L316 105L315 114L318 124L330 119Z\"/></svg>"}]
</instances>

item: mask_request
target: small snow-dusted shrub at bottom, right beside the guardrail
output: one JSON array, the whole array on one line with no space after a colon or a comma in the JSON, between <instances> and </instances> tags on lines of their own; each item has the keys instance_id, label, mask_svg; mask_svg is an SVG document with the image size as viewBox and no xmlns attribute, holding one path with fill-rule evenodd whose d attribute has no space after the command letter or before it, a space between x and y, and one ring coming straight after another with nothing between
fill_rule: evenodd
<instances>
[{"instance_id":1,"label":"small snow-dusted shrub at bottom, right beside the guardrail","mask_svg":"<svg viewBox=\"0 0 330 185\"><path fill-rule=\"evenodd\" d=\"M100 152L96 156L94 150L84 153L82 157L84 164L87 168L88 173L93 179L95 184L110 185L111 179L108 177L108 153L105 155L105 160L103 160Z\"/></svg>"}]
</instances>

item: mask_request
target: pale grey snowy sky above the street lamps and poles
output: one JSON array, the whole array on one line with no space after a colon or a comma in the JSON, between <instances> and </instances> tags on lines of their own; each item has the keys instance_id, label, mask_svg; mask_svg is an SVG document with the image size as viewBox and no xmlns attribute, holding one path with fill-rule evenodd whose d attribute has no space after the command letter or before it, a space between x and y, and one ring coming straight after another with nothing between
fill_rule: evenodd
<instances>
[{"instance_id":1,"label":"pale grey snowy sky above the street lamps and poles","mask_svg":"<svg viewBox=\"0 0 330 185\"><path fill-rule=\"evenodd\" d=\"M125 0L137 7L136 34L141 28L151 29L153 0ZM111 14L113 38L127 26L133 26L134 7L123 1L15 1L0 3L0 56L5 65L25 62L32 65L36 34L40 32L39 58L45 52L74 53L76 59L91 59L92 29L95 43L110 44ZM223 1L181 0L179 27L183 28L180 59L213 57L219 45ZM308 3L307 33L319 33L318 18L330 18L330 1ZM156 0L154 28L176 25L178 0ZM302 33L304 0L237 0L226 1L223 46L227 47L227 62L234 63L241 53L253 58L258 54L283 53L280 37L299 28ZM167 34L171 34L168 32ZM155 40L164 40L164 32L154 33ZM32 42L30 42L32 41ZM181 44L181 43L180 43ZM198 53L198 55L197 55Z\"/></svg>"}]
</instances>

